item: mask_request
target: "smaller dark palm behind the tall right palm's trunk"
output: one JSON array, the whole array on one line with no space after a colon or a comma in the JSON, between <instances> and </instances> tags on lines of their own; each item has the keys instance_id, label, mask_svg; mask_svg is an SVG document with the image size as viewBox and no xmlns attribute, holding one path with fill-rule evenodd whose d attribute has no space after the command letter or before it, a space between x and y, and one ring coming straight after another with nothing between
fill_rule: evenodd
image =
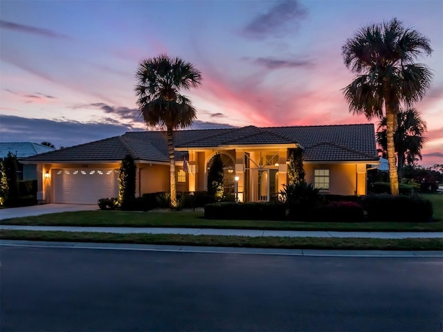
<instances>
[{"instance_id":1,"label":"smaller dark palm behind the tall right palm's trunk","mask_svg":"<svg viewBox=\"0 0 443 332\"><path fill-rule=\"evenodd\" d=\"M415 158L422 160L421 150L426 138L426 122L422 120L417 109L400 110L397 113L397 129L394 131L395 152L397 152L397 174L403 178L405 163L412 165ZM386 117L383 117L377 127L377 142L386 151Z\"/></svg>"}]
</instances>

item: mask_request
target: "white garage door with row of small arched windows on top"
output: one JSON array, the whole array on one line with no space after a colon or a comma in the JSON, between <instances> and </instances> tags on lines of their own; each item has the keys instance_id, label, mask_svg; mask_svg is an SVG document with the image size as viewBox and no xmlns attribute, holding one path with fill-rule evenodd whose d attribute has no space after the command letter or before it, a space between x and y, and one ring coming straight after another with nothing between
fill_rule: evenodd
<instances>
[{"instance_id":1,"label":"white garage door with row of small arched windows on top","mask_svg":"<svg viewBox=\"0 0 443 332\"><path fill-rule=\"evenodd\" d=\"M97 204L98 199L118 196L118 169L54 169L54 201Z\"/></svg>"}]
</instances>

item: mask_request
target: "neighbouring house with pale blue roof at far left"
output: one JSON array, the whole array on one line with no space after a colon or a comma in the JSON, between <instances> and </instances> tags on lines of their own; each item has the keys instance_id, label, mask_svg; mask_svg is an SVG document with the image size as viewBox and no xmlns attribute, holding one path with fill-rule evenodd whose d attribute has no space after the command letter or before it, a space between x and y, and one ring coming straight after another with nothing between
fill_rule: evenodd
<instances>
[{"instance_id":1,"label":"neighbouring house with pale blue roof at far left","mask_svg":"<svg viewBox=\"0 0 443 332\"><path fill-rule=\"evenodd\" d=\"M17 177L19 180L37 180L37 169L35 165L23 165L21 160L35 154L53 151L53 147L46 147L33 142L0 142L0 158L3 160L8 153L17 156Z\"/></svg>"}]
</instances>

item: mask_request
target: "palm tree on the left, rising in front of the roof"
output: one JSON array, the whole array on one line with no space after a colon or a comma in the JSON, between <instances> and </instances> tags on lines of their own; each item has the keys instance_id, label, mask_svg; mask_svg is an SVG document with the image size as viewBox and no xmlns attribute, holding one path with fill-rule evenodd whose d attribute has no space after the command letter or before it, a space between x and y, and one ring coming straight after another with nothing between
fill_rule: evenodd
<instances>
[{"instance_id":1,"label":"palm tree on the left, rising in front of the roof","mask_svg":"<svg viewBox=\"0 0 443 332\"><path fill-rule=\"evenodd\" d=\"M175 182L174 130L186 128L195 120L191 101L180 94L201 84L201 73L179 57L162 54L143 59L136 71L138 111L150 127L163 127L168 138L171 207L177 208Z\"/></svg>"}]
</instances>

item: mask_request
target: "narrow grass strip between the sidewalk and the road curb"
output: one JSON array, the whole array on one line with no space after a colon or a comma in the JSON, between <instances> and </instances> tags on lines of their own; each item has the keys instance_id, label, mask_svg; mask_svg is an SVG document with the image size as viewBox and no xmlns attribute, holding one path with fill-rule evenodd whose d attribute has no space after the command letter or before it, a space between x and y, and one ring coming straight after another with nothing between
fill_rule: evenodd
<instances>
[{"instance_id":1,"label":"narrow grass strip between the sidewalk and the road curb","mask_svg":"<svg viewBox=\"0 0 443 332\"><path fill-rule=\"evenodd\" d=\"M183 234L115 234L0 230L1 239L32 241L73 241L95 243L138 243L176 246L217 246L235 248L286 248L336 250L442 250L443 239L362 239L318 237L233 237Z\"/></svg>"}]
</instances>

